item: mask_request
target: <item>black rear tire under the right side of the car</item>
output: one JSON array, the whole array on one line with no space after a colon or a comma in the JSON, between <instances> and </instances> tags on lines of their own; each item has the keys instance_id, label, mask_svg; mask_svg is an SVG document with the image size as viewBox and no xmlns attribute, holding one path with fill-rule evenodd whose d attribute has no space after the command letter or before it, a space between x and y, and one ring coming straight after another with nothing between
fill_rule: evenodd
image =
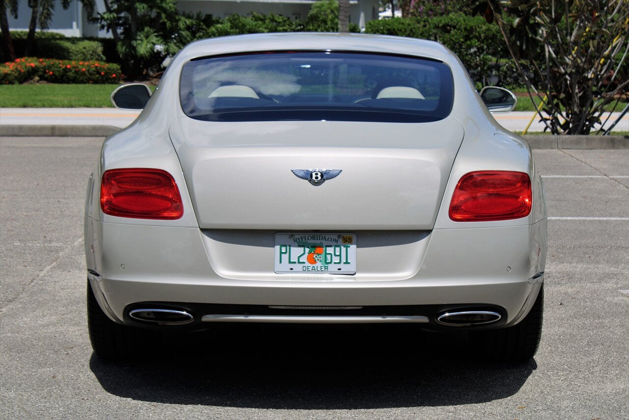
<instances>
[{"instance_id":1,"label":"black rear tire under the right side of the car","mask_svg":"<svg viewBox=\"0 0 629 420\"><path fill-rule=\"evenodd\" d=\"M525 319L503 329L470 332L471 344L489 360L525 362L533 358L542 338L544 288Z\"/></svg>"}]
</instances>

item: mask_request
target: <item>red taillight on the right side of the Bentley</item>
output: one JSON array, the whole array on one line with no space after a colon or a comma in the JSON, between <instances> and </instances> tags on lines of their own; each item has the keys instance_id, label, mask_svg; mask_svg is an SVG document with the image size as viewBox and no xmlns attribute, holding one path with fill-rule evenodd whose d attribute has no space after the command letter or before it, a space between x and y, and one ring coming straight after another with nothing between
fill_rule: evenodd
<instances>
[{"instance_id":1,"label":"red taillight on the right side of the Bentley","mask_svg":"<svg viewBox=\"0 0 629 420\"><path fill-rule=\"evenodd\" d=\"M531 212L531 179L513 171L478 171L459 180L450 202L455 222L519 219Z\"/></svg>"}]
</instances>

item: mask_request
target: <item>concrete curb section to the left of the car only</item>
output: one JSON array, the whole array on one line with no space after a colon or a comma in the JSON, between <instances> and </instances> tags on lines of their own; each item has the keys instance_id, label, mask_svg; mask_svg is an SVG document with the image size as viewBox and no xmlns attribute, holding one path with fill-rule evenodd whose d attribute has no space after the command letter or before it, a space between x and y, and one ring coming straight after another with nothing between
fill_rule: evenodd
<instances>
[{"instance_id":1,"label":"concrete curb section to the left of the car only","mask_svg":"<svg viewBox=\"0 0 629 420\"><path fill-rule=\"evenodd\" d=\"M6 137L105 137L120 130L111 125L0 125Z\"/></svg>"}]
</instances>

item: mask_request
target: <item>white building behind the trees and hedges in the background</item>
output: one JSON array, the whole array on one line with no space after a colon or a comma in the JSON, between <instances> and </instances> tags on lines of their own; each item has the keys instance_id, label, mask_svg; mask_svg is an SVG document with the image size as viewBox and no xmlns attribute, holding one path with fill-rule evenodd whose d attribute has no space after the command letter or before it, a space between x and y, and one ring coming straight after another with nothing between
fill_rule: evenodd
<instances>
[{"instance_id":1,"label":"white building behind the trees and hedges in the background","mask_svg":"<svg viewBox=\"0 0 629 420\"><path fill-rule=\"evenodd\" d=\"M81 2L72 0L68 9L55 2L55 12L49 31L64 34L66 37L111 37L111 33L99 30L98 25L87 20L87 13ZM251 12L260 14L281 14L287 18L306 20L310 7L316 0L182 0L177 2L181 11L211 14L215 18L225 18L230 14L246 16ZM378 18L379 0L350 0L350 22L364 28L365 23ZM103 0L96 0L97 11L104 11ZM31 9L28 0L20 0L18 18L8 16L11 30L28 30Z\"/></svg>"}]
</instances>

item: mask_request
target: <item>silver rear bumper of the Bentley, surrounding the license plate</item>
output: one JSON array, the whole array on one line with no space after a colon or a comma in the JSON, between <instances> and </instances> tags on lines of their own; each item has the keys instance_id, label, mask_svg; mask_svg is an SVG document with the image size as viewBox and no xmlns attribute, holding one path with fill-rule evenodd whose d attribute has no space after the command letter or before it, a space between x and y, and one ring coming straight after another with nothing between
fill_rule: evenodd
<instances>
[{"instance_id":1,"label":"silver rear bumper of the Bentley, surrounding the license plate","mask_svg":"<svg viewBox=\"0 0 629 420\"><path fill-rule=\"evenodd\" d=\"M177 302L491 305L504 310L501 325L510 325L537 297L543 276L533 277L543 272L546 249L545 220L517 227L357 232L356 275L277 275L275 232L250 232L247 242L245 232L89 223L87 268L98 274L90 276L92 287L104 312L126 323L125 311L138 302ZM361 246L360 237L368 236L371 242ZM393 265L387 266L387 258L374 263L377 254L390 256ZM235 255L242 257L240 268ZM361 266L361 258L371 262Z\"/></svg>"}]
</instances>

